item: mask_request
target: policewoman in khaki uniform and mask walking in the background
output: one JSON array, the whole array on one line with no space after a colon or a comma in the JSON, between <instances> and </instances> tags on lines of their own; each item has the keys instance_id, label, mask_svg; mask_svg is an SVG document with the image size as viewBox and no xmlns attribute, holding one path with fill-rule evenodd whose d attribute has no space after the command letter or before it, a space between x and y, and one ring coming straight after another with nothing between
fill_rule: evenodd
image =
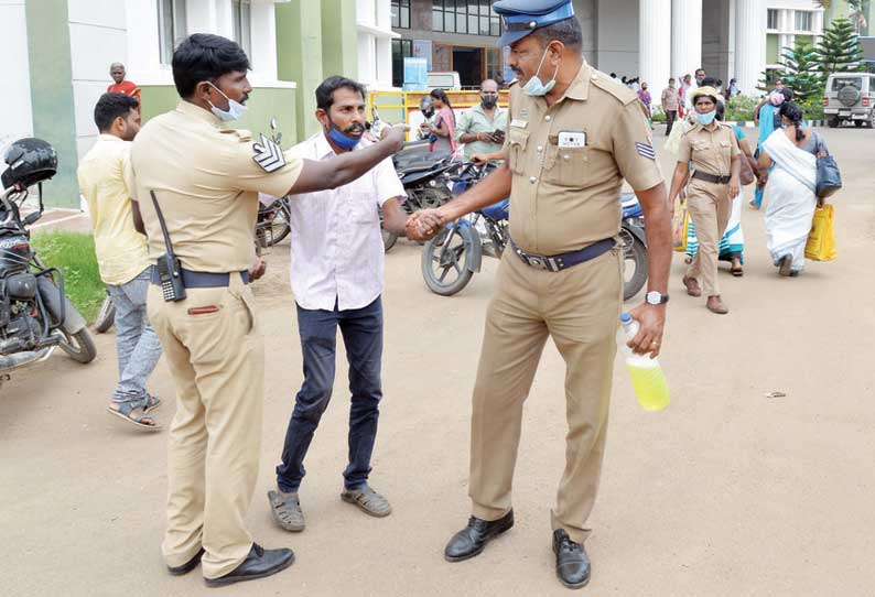
<instances>
[{"instance_id":1,"label":"policewoman in khaki uniform and mask walking in the background","mask_svg":"<svg viewBox=\"0 0 875 597\"><path fill-rule=\"evenodd\" d=\"M699 251L687 268L683 285L690 296L701 296L704 287L705 305L722 315L730 310L720 296L717 281L720 239L730 221L732 198L738 194L742 151L732 127L716 120L716 89L700 87L692 91L692 102L696 124L681 139L669 202L674 205L689 176L687 208L695 226Z\"/></svg>"}]
</instances>

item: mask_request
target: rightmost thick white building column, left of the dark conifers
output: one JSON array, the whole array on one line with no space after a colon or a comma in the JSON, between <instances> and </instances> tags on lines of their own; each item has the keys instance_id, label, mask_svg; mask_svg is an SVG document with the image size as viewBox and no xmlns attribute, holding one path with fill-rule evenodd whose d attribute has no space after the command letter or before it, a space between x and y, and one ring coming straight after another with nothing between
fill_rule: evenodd
<instances>
[{"instance_id":1,"label":"rightmost thick white building column, left of the dark conifers","mask_svg":"<svg viewBox=\"0 0 875 597\"><path fill-rule=\"evenodd\" d=\"M735 78L745 95L755 95L766 68L766 6L763 0L735 1Z\"/></svg>"}]
</instances>

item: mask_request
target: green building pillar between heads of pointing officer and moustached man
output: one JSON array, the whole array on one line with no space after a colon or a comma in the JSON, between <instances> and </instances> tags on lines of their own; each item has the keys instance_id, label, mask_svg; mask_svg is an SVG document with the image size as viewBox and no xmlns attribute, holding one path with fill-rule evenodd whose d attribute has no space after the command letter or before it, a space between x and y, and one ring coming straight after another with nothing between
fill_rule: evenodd
<instances>
[{"instance_id":1,"label":"green building pillar between heads of pointing officer and moustached man","mask_svg":"<svg viewBox=\"0 0 875 597\"><path fill-rule=\"evenodd\" d=\"M314 91L323 80L322 0L277 4L277 76L298 84L295 124L305 139L320 129Z\"/></svg>"}]
</instances>

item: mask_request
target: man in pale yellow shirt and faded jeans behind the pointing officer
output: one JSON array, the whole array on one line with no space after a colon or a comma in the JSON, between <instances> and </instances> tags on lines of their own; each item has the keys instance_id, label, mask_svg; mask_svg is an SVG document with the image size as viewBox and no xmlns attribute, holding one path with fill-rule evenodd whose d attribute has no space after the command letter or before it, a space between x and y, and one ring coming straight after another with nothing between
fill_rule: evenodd
<instances>
[{"instance_id":1,"label":"man in pale yellow shirt and faded jeans behind the pointing officer","mask_svg":"<svg viewBox=\"0 0 875 597\"><path fill-rule=\"evenodd\" d=\"M151 262L145 236L134 228L130 193L130 148L140 130L139 102L125 94L104 94L94 110L100 131L79 163L79 188L91 216L100 279L116 305L119 381L109 412L138 427L161 425L149 412L160 400L145 389L161 358L161 341L145 315Z\"/></svg>"}]
</instances>

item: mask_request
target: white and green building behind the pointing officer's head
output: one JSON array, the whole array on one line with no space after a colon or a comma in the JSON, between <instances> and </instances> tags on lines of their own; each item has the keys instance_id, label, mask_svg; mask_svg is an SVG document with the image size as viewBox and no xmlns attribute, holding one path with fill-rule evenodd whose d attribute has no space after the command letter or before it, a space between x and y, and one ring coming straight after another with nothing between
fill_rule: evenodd
<instances>
[{"instance_id":1,"label":"white and green building behind the pointing officer's head","mask_svg":"<svg viewBox=\"0 0 875 597\"><path fill-rule=\"evenodd\" d=\"M122 62L142 89L144 120L179 97L170 62L191 33L236 40L252 64L248 111L235 126L267 131L277 117L284 144L315 132L315 87L328 75L391 86L390 0L0 0L10 58L0 94L0 148L40 137L58 151L46 204L78 207L78 158L97 138L94 105ZM359 48L367 58L359 61Z\"/></svg>"}]
</instances>

